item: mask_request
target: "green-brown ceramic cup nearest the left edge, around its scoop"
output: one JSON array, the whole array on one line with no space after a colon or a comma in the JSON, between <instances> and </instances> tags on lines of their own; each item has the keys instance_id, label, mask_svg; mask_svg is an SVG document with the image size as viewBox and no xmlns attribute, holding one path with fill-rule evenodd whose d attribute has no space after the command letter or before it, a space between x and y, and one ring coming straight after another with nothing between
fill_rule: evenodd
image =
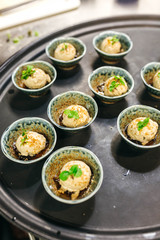
<instances>
[{"instance_id":1,"label":"green-brown ceramic cup nearest the left edge, around its scoop","mask_svg":"<svg viewBox=\"0 0 160 240\"><path fill-rule=\"evenodd\" d=\"M17 138L23 133L23 129L26 131L35 131L43 134L47 141L47 147L45 152L32 160L20 160L15 153L14 144ZM11 161L21 164L31 164L45 159L54 149L57 141L57 134L47 120L38 117L26 117L21 118L13 122L3 133L1 138L1 149L3 154Z\"/></svg>"}]
</instances>

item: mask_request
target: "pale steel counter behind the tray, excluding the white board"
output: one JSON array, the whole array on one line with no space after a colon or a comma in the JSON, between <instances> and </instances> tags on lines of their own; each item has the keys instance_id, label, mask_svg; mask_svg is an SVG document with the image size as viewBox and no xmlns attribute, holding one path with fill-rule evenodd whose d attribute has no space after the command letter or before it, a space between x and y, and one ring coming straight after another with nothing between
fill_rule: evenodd
<instances>
[{"instance_id":1,"label":"pale steel counter behind the tray, excluding the white board","mask_svg":"<svg viewBox=\"0 0 160 240\"><path fill-rule=\"evenodd\" d=\"M160 14L159 0L81 0L81 6L73 11L48 17L32 23L20 25L11 29L0 31L0 65L18 50L36 41L38 37L34 34L30 37L27 32L30 30L39 32L39 38L65 27L78 23L100 19L111 16L139 14ZM1 29L1 26L0 26ZM11 38L24 36L19 43L6 42L7 34Z\"/></svg>"}]
</instances>

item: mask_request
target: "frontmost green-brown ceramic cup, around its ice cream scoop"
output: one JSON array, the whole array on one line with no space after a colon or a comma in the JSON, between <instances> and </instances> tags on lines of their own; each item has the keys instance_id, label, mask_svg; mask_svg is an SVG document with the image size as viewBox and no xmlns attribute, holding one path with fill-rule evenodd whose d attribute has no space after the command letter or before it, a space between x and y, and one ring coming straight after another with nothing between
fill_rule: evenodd
<instances>
[{"instance_id":1,"label":"frontmost green-brown ceramic cup, around its ice cream scoop","mask_svg":"<svg viewBox=\"0 0 160 240\"><path fill-rule=\"evenodd\" d=\"M66 160L67 159L67 160ZM60 170L66 161L79 160L86 163L92 172L92 180L86 192L75 200L65 199L58 195L54 183L54 174L59 176ZM65 161L65 162L64 162ZM53 171L54 169L54 171ZM44 163L42 169L42 182L46 192L59 202L66 204L79 204L93 197L100 189L103 181L103 168L97 156L83 147L64 147L55 151Z\"/></svg>"}]
</instances>

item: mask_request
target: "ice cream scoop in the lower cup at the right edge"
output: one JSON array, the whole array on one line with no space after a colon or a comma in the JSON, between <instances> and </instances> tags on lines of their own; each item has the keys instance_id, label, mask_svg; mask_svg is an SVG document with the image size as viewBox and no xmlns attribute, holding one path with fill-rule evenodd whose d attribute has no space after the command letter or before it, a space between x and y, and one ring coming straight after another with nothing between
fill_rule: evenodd
<instances>
[{"instance_id":1,"label":"ice cream scoop in the lower cup at the right edge","mask_svg":"<svg viewBox=\"0 0 160 240\"><path fill-rule=\"evenodd\" d=\"M139 117L134 119L127 128L127 134L132 140L136 140L142 143L142 145L146 145L152 139L155 138L158 131L158 124L149 119L148 124L143 127L141 130L138 130L138 122L144 121L145 117Z\"/></svg>"}]
</instances>

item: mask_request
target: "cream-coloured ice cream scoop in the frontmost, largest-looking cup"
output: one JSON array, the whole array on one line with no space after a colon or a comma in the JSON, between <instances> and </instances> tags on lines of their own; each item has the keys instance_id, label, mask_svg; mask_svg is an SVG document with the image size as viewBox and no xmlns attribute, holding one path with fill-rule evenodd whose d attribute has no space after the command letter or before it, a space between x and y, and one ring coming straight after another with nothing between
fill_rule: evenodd
<instances>
[{"instance_id":1,"label":"cream-coloured ice cream scoop in the frontmost, largest-looking cup","mask_svg":"<svg viewBox=\"0 0 160 240\"><path fill-rule=\"evenodd\" d=\"M66 181L62 181L60 179L59 183L61 185L60 188L61 192L65 191L73 192L71 198L76 199L79 195L79 192L88 187L91 179L91 170L90 167L83 161L74 160L67 162L61 169L61 172L69 171L73 165L78 165L78 167L82 171L82 175L80 177L70 175Z\"/></svg>"}]
</instances>

